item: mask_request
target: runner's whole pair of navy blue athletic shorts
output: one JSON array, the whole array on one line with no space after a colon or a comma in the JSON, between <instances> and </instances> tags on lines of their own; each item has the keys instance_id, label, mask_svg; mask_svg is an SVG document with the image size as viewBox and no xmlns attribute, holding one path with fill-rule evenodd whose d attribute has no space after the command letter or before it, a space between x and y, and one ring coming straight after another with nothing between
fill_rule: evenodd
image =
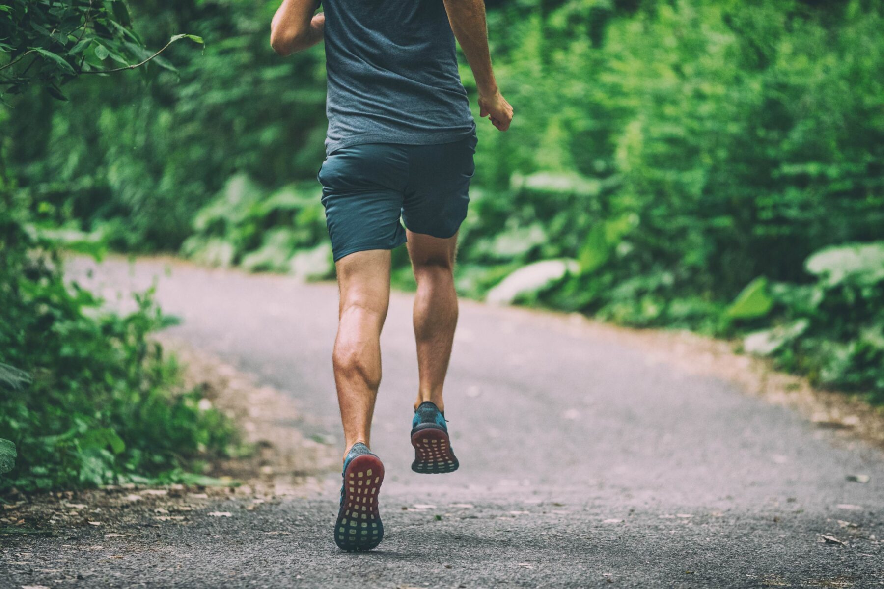
<instances>
[{"instance_id":1,"label":"runner's whole pair of navy blue athletic shorts","mask_svg":"<svg viewBox=\"0 0 884 589\"><path fill-rule=\"evenodd\" d=\"M334 260L405 243L405 230L450 238L467 216L476 135L437 145L363 143L325 158L325 223Z\"/></svg>"}]
</instances>

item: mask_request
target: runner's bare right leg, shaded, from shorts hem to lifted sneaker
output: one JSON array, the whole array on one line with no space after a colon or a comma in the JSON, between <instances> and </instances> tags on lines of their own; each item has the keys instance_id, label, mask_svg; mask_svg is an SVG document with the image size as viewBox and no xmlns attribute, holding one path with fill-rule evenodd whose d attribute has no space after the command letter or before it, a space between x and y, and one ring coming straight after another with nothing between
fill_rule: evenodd
<instances>
[{"instance_id":1,"label":"runner's bare right leg, shaded, from shorts hem to lifted sneaker","mask_svg":"<svg viewBox=\"0 0 884 589\"><path fill-rule=\"evenodd\" d=\"M407 231L408 254L415 271L415 342L420 384L415 409L424 401L445 411L442 387L457 327L457 294L454 291L454 254L457 235L433 238Z\"/></svg>"}]
</instances>

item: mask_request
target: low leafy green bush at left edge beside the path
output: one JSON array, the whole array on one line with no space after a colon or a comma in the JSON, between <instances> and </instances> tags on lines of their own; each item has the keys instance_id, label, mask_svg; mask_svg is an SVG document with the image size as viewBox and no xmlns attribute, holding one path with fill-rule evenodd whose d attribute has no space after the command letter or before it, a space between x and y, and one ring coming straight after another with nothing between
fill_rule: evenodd
<instances>
[{"instance_id":1,"label":"low leafy green bush at left edge beside the path","mask_svg":"<svg viewBox=\"0 0 884 589\"><path fill-rule=\"evenodd\" d=\"M198 390L182 389L179 366L148 338L171 321L152 292L136 295L133 313L103 311L65 282L57 231L31 220L24 203L0 202L0 438L19 453L0 489L169 479L225 454L232 425ZM82 240L79 249L94 247Z\"/></svg>"}]
</instances>

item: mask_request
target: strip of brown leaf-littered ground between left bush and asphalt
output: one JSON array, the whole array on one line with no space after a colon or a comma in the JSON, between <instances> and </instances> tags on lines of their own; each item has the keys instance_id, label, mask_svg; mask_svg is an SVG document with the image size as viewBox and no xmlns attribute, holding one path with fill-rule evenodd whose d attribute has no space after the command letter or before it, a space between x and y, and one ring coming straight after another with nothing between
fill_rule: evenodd
<instances>
[{"instance_id":1,"label":"strip of brown leaf-littered ground between left bush and asphalt","mask_svg":"<svg viewBox=\"0 0 884 589\"><path fill-rule=\"evenodd\" d=\"M229 416L255 451L211 463L211 476L120 482L52 492L7 492L0 537L102 532L105 538L141 537L151 528L190 525L225 513L263 510L287 496L323 492L326 472L339 468L338 449L300 434L299 415L282 391L259 386L217 357L164 333L150 336L179 361L183 387L199 390L203 405ZM173 479L172 479L173 480Z\"/></svg>"}]
</instances>

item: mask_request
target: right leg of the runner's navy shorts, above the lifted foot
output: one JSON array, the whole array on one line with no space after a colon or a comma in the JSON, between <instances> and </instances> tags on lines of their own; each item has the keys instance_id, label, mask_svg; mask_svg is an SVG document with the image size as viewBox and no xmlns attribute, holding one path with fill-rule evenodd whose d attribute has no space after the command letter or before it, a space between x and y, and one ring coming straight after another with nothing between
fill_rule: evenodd
<instances>
[{"instance_id":1,"label":"right leg of the runner's navy shorts, above the lifted foot","mask_svg":"<svg viewBox=\"0 0 884 589\"><path fill-rule=\"evenodd\" d=\"M442 239L457 233L467 216L475 153L475 135L451 143L411 146L402 205L406 229Z\"/></svg>"}]
</instances>

